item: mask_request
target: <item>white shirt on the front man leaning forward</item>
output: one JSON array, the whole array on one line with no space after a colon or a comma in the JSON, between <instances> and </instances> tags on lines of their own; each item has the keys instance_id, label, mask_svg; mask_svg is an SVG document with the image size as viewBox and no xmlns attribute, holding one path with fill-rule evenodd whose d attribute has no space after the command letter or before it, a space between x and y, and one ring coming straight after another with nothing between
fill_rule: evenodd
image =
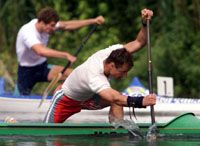
<instances>
[{"instance_id":1,"label":"white shirt on the front man leaning forward","mask_svg":"<svg viewBox=\"0 0 200 146\"><path fill-rule=\"evenodd\" d=\"M71 99L85 101L95 93L110 88L108 78L104 75L103 61L113 50L120 48L123 45L117 44L100 50L74 69L62 85L64 94Z\"/></svg>"}]
</instances>

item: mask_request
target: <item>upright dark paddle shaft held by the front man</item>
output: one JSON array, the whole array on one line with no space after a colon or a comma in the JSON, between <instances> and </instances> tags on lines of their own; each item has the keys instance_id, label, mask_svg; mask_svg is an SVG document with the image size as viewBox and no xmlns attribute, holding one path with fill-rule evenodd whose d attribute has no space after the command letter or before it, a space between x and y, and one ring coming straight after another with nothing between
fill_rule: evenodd
<instances>
[{"instance_id":1,"label":"upright dark paddle shaft held by the front man","mask_svg":"<svg viewBox=\"0 0 200 146\"><path fill-rule=\"evenodd\" d=\"M153 73L152 73L152 59L151 59L151 43L150 43L150 21L147 19L147 58L148 58L148 84L149 84L149 93L153 94ZM154 106L151 106L151 122L152 125L155 123L155 113Z\"/></svg>"}]
</instances>

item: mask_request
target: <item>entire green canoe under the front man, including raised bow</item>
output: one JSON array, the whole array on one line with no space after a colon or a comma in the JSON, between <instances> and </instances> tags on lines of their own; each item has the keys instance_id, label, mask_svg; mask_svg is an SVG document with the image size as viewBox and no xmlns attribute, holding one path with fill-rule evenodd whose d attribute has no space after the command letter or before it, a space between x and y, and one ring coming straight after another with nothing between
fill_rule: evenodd
<instances>
[{"instance_id":1,"label":"entire green canoe under the front man, including raised bow","mask_svg":"<svg viewBox=\"0 0 200 146\"><path fill-rule=\"evenodd\" d=\"M150 123L138 123L141 133L148 132ZM159 135L190 135L200 137L200 119L193 113L180 115L168 123L156 123ZM0 123L0 136L78 136L78 135L127 135L123 127L114 128L109 123Z\"/></svg>"}]
</instances>

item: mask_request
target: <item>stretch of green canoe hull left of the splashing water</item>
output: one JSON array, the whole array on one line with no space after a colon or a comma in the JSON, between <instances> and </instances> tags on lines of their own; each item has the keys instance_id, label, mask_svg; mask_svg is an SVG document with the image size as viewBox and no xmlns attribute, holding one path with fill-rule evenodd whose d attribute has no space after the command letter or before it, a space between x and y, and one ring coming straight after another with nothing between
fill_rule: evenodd
<instances>
[{"instance_id":1,"label":"stretch of green canoe hull left of the splashing water","mask_svg":"<svg viewBox=\"0 0 200 146\"><path fill-rule=\"evenodd\" d=\"M125 135L122 127L114 128L109 123L1 123L0 135L77 136L77 135Z\"/></svg>"}]
</instances>

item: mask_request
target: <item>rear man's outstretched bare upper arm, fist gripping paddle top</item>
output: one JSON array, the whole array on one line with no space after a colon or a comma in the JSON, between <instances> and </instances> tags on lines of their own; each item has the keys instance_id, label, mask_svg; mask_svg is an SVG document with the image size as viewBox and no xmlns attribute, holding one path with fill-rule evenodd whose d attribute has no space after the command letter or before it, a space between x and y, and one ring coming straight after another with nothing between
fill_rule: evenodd
<instances>
[{"instance_id":1,"label":"rear man's outstretched bare upper arm, fist gripping paddle top","mask_svg":"<svg viewBox=\"0 0 200 146\"><path fill-rule=\"evenodd\" d=\"M75 30L84 26L96 24L102 25L105 22L103 16L98 16L96 18L84 19L84 20L70 20L70 21L59 21L58 29L61 30Z\"/></svg>"}]
</instances>

